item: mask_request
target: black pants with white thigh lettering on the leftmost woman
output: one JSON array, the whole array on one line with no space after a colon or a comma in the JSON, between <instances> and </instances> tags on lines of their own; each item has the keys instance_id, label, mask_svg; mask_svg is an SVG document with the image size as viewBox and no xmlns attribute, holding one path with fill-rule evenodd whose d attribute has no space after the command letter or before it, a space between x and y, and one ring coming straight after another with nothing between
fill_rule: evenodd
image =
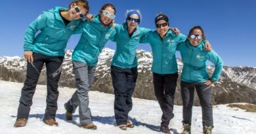
<instances>
[{"instance_id":1,"label":"black pants with white thigh lettering on the leftmost woman","mask_svg":"<svg viewBox=\"0 0 256 134\"><path fill-rule=\"evenodd\" d=\"M27 65L26 81L21 92L17 119L28 118L30 114L33 94L35 93L35 87L44 63L47 69L47 107L44 120L55 118L56 110L58 109L58 80L60 79L63 58L62 56L49 57L33 53L33 63L28 63Z\"/></svg>"}]
</instances>

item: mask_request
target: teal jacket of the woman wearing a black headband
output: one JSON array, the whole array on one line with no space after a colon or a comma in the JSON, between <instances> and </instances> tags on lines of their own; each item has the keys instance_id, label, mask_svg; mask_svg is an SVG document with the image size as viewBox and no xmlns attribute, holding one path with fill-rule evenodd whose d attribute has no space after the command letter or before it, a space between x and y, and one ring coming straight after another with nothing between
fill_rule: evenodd
<instances>
[{"instance_id":1,"label":"teal jacket of the woman wearing a black headband","mask_svg":"<svg viewBox=\"0 0 256 134\"><path fill-rule=\"evenodd\" d=\"M180 42L186 41L186 36L175 35L171 30L161 39L158 31L150 31L142 42L150 43L153 54L152 72L158 74L173 74L178 72L175 51Z\"/></svg>"}]
</instances>

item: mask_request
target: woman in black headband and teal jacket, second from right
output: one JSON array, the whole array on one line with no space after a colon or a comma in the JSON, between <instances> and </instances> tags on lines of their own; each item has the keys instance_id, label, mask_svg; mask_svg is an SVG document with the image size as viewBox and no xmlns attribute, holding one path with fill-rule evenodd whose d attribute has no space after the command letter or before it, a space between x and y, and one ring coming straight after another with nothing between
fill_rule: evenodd
<instances>
[{"instance_id":1,"label":"woman in black headband and teal jacket, second from right","mask_svg":"<svg viewBox=\"0 0 256 134\"><path fill-rule=\"evenodd\" d=\"M175 51L179 43L186 41L186 36L181 33L177 35L170 30L169 18L165 14L158 14L155 24L156 30L149 31L142 42L148 42L152 48L154 93L163 112L160 131L170 133L169 122L174 117L173 105L178 78ZM207 49L209 47L210 45Z\"/></svg>"}]
</instances>

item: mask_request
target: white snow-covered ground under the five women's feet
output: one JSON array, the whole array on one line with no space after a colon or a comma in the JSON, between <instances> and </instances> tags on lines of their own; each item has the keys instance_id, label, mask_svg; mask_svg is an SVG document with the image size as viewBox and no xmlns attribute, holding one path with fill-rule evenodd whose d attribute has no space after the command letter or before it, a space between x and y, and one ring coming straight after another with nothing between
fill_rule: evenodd
<instances>
[{"instance_id":1,"label":"white snow-covered ground under the five women's feet","mask_svg":"<svg viewBox=\"0 0 256 134\"><path fill-rule=\"evenodd\" d=\"M47 126L43 123L45 111L46 86L37 85L33 96L33 105L30 118L25 127L14 128L18 100L22 83L6 82L0 80L0 133L160 133L158 131L161 122L161 110L157 101L133 98L133 110L129 118L135 124L132 129L122 131L116 127L114 118L114 95L100 92L89 92L93 122L98 126L97 130L87 130L79 127L78 110L74 114L74 120L67 122L64 119L64 103L70 99L75 89L59 88L58 111L56 121L59 126ZM171 120L169 127L171 133L181 133L182 130L182 107L175 105L175 118ZM226 105L213 107L215 128L213 133L255 133L256 113L245 112L241 109L229 108ZM202 114L200 107L194 107L192 118L192 133L202 133Z\"/></svg>"}]
</instances>

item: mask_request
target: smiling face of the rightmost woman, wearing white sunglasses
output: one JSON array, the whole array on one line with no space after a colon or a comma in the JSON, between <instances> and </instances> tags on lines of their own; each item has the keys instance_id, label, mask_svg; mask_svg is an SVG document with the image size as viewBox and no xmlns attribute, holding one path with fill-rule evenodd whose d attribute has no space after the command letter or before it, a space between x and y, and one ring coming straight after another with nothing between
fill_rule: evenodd
<instances>
[{"instance_id":1,"label":"smiling face of the rightmost woman, wearing white sunglasses","mask_svg":"<svg viewBox=\"0 0 256 134\"><path fill-rule=\"evenodd\" d=\"M200 44L203 41L203 39L200 39L200 36L203 36L202 31L200 29L194 29L188 36L190 44L192 44L193 46L198 46L198 44Z\"/></svg>"}]
</instances>

